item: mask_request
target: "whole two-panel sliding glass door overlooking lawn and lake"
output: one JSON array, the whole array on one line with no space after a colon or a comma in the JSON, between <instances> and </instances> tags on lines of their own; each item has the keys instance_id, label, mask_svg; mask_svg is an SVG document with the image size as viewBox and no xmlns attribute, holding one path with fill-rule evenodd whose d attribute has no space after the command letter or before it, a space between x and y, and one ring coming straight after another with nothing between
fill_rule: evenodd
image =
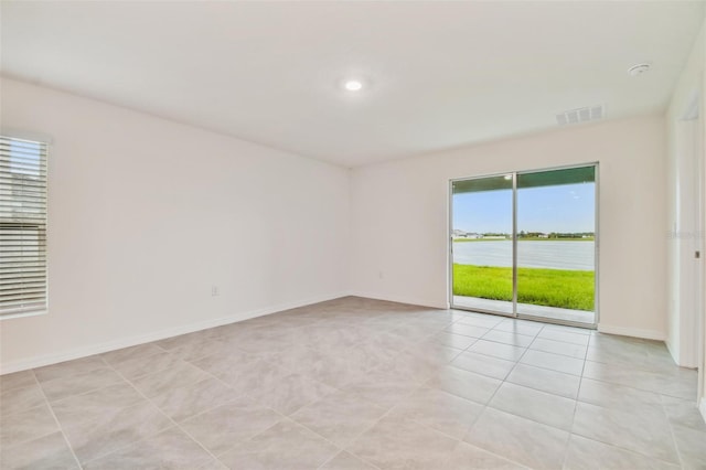
<instances>
[{"instance_id":1,"label":"whole two-panel sliding glass door overlooking lawn and lake","mask_svg":"<svg viewBox=\"0 0 706 470\"><path fill-rule=\"evenodd\" d=\"M453 308L596 324L595 164L451 182Z\"/></svg>"}]
</instances>

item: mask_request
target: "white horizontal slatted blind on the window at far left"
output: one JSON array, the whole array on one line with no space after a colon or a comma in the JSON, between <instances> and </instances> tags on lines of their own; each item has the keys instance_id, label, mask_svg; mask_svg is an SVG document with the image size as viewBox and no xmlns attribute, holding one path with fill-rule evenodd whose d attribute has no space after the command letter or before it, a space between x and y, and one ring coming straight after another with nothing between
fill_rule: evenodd
<instances>
[{"instance_id":1,"label":"white horizontal slatted blind on the window at far left","mask_svg":"<svg viewBox=\"0 0 706 470\"><path fill-rule=\"evenodd\" d=\"M46 143L0 136L0 317L46 310Z\"/></svg>"}]
</instances>

